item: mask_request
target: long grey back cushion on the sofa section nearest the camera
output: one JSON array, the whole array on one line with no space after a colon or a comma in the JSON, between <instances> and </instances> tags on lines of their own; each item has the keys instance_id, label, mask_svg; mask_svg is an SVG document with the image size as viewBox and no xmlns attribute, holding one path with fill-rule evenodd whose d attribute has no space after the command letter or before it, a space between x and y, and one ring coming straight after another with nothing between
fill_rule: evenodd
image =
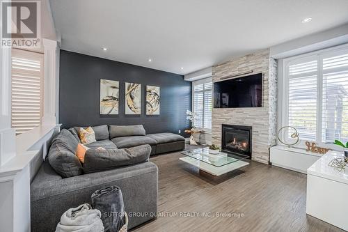
<instances>
[{"instance_id":1,"label":"long grey back cushion on the sofa section nearest the camera","mask_svg":"<svg viewBox=\"0 0 348 232\"><path fill-rule=\"evenodd\" d=\"M84 158L84 173L145 162L149 160L150 153L151 146L148 144L114 150L89 149Z\"/></svg>"}]
</instances>

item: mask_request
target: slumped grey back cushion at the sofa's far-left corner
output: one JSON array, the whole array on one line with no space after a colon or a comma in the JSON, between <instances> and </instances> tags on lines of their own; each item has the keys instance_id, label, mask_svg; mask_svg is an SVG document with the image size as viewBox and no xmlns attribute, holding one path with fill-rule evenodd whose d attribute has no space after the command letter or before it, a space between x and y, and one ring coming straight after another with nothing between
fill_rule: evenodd
<instances>
[{"instance_id":1,"label":"slumped grey back cushion at the sofa's far-left corner","mask_svg":"<svg viewBox=\"0 0 348 232\"><path fill-rule=\"evenodd\" d=\"M49 164L62 177L78 176L83 173L81 163L75 155L77 144L74 136L65 129L52 139L48 153Z\"/></svg>"}]
</instances>

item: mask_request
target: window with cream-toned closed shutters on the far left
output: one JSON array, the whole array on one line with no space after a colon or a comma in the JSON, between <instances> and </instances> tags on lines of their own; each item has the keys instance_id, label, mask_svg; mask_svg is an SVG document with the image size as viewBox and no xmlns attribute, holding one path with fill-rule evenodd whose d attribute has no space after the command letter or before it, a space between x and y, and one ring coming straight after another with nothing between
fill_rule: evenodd
<instances>
[{"instance_id":1,"label":"window with cream-toned closed shutters on the far left","mask_svg":"<svg viewBox=\"0 0 348 232\"><path fill-rule=\"evenodd\" d=\"M16 134L41 123L42 64L42 54L12 50L11 124Z\"/></svg>"}]
</instances>

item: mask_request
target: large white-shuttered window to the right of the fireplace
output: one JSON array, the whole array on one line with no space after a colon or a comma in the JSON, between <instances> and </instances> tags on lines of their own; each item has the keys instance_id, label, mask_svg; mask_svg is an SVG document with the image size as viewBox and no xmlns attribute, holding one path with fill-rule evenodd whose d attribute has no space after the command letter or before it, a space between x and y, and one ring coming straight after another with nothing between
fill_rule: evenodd
<instances>
[{"instance_id":1,"label":"large white-shuttered window to the right of the fireplace","mask_svg":"<svg viewBox=\"0 0 348 232\"><path fill-rule=\"evenodd\" d=\"M348 48L285 61L285 125L302 140L348 141Z\"/></svg>"}]
</instances>

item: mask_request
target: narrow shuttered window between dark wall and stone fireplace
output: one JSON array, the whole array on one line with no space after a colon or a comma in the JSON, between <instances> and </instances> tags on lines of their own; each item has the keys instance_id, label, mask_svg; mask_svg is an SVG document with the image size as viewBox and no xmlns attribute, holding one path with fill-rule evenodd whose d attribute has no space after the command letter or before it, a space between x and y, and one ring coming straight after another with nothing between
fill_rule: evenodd
<instances>
[{"instance_id":1,"label":"narrow shuttered window between dark wall and stone fireplace","mask_svg":"<svg viewBox=\"0 0 348 232\"><path fill-rule=\"evenodd\" d=\"M192 84L193 112L198 114L195 127L212 130L212 79L202 79Z\"/></svg>"}]
</instances>

